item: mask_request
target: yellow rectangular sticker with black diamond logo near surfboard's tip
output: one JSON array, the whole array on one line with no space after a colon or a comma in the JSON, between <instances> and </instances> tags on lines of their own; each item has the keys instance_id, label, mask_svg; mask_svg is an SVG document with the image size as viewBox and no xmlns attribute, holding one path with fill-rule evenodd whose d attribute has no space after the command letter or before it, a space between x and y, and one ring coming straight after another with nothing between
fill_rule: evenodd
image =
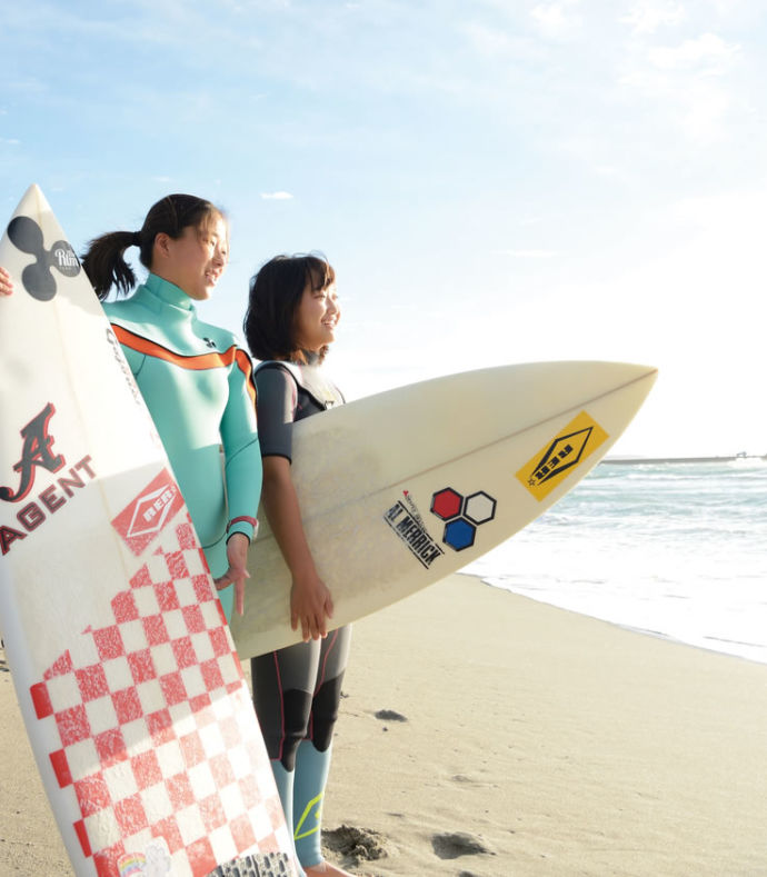
<instances>
[{"instance_id":1,"label":"yellow rectangular sticker with black diamond logo near surfboard's tip","mask_svg":"<svg viewBox=\"0 0 767 877\"><path fill-rule=\"evenodd\" d=\"M564 427L517 472L522 486L541 500L605 441L607 432L586 411Z\"/></svg>"}]
</instances>

